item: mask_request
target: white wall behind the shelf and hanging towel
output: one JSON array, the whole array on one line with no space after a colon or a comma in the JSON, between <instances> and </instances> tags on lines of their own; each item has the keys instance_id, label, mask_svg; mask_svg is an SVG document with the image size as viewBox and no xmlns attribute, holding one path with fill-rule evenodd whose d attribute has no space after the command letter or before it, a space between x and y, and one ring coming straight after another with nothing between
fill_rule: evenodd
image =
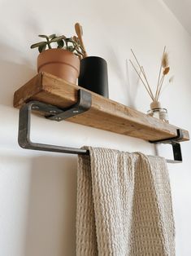
<instances>
[{"instance_id":1,"label":"white wall behind the shelf and hanging towel","mask_svg":"<svg viewBox=\"0 0 191 256\"><path fill-rule=\"evenodd\" d=\"M163 93L170 121L191 130L191 38L160 0L0 2L0 255L75 255L76 156L32 152L17 144L18 110L13 93L33 77L39 33L74 33L80 21L89 55L107 60L110 98L145 112L150 99L129 68L130 48L156 82L166 45L175 82ZM84 144L154 154L140 139L69 122L33 117L33 139L80 147ZM160 147L161 148L161 147ZM184 163L169 166L176 217L176 254L191 255L190 143L182 143ZM161 155L171 150L162 148Z\"/></svg>"}]
</instances>

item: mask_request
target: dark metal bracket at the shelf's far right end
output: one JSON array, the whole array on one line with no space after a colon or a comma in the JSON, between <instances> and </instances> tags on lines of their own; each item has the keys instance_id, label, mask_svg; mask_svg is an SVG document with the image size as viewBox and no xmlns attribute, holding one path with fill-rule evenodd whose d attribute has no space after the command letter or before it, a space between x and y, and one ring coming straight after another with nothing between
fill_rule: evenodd
<instances>
[{"instance_id":1,"label":"dark metal bracket at the shelf's far right end","mask_svg":"<svg viewBox=\"0 0 191 256\"><path fill-rule=\"evenodd\" d=\"M183 138L183 132L180 129L177 129L176 137L172 137L170 139L159 139L159 140L152 140L150 143L163 143L163 144L171 144L173 150L174 160L167 159L168 163L181 163L182 162L182 153L180 143L178 143Z\"/></svg>"}]
</instances>

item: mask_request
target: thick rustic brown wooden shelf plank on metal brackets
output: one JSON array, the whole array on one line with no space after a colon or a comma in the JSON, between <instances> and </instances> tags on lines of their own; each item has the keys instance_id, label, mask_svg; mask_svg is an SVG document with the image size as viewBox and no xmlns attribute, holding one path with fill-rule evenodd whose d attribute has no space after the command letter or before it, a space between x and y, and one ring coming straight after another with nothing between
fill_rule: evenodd
<instances>
[{"instance_id":1,"label":"thick rustic brown wooden shelf plank on metal brackets","mask_svg":"<svg viewBox=\"0 0 191 256\"><path fill-rule=\"evenodd\" d=\"M30 100L38 100L59 108L66 108L76 103L79 88L82 87L65 82L49 73L39 73L15 91L14 107L20 108ZM144 113L101 95L93 92L91 94L92 107L89 111L70 117L67 121L145 140L175 137L176 129L180 128L154 117L148 117ZM189 131L183 130L183 135L181 141L189 140Z\"/></svg>"}]
</instances>

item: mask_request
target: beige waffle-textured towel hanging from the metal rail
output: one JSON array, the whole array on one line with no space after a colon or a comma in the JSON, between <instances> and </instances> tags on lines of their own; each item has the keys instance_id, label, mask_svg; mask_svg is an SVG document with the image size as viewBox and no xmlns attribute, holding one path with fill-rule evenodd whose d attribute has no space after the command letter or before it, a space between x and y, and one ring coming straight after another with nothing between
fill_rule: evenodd
<instances>
[{"instance_id":1,"label":"beige waffle-textured towel hanging from the metal rail","mask_svg":"<svg viewBox=\"0 0 191 256\"><path fill-rule=\"evenodd\" d=\"M78 158L77 256L175 255L166 161L88 149Z\"/></svg>"}]
</instances>

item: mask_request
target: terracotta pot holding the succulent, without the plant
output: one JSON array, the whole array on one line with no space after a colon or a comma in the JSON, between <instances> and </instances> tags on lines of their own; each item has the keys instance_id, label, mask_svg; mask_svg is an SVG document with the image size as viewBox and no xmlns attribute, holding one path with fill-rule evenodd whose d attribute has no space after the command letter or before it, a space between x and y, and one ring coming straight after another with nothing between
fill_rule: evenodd
<instances>
[{"instance_id":1,"label":"terracotta pot holding the succulent, without the plant","mask_svg":"<svg viewBox=\"0 0 191 256\"><path fill-rule=\"evenodd\" d=\"M51 73L67 82L76 84L80 73L80 60L71 51L49 49L38 55L37 71L38 73Z\"/></svg>"}]
</instances>

